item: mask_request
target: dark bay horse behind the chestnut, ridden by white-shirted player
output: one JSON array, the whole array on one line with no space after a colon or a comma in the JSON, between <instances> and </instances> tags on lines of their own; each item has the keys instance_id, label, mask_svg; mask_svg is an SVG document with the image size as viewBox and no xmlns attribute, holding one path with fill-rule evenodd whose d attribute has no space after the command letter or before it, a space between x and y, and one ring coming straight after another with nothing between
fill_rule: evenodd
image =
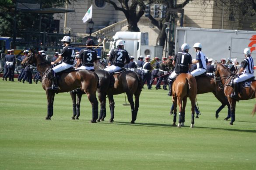
<instances>
[{"instance_id":1,"label":"dark bay horse behind the chestnut, ridden by white-shirted player","mask_svg":"<svg viewBox=\"0 0 256 170\"><path fill-rule=\"evenodd\" d=\"M168 67L172 68L172 59L167 59L166 64ZM212 92L218 101L221 102L221 106L216 110L215 117L216 119L219 117L219 112L227 105L228 106L228 116L224 120L228 120L230 118L230 106L228 103L227 97L224 95L223 88L219 88L217 82L214 79L214 76L208 75L200 75L196 76L196 84L197 84L197 94L204 94L208 92ZM195 106L196 107L196 106ZM171 108L170 114L173 114L173 109ZM198 118L198 117L196 117ZM174 126L176 126L174 124Z\"/></svg>"}]
</instances>

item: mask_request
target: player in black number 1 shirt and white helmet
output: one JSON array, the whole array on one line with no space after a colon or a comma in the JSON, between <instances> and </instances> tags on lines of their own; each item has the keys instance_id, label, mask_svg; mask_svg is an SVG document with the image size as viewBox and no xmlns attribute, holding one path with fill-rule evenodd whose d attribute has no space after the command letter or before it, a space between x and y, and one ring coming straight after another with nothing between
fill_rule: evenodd
<instances>
[{"instance_id":1,"label":"player in black number 1 shirt and white helmet","mask_svg":"<svg viewBox=\"0 0 256 170\"><path fill-rule=\"evenodd\" d=\"M168 82L169 82L169 91L168 96L172 96L172 80L176 78L180 73L187 73L189 74L189 68L192 65L192 57L188 53L189 52L189 44L182 44L180 52L175 54L172 65L175 65L174 71L172 74L169 75Z\"/></svg>"}]
</instances>

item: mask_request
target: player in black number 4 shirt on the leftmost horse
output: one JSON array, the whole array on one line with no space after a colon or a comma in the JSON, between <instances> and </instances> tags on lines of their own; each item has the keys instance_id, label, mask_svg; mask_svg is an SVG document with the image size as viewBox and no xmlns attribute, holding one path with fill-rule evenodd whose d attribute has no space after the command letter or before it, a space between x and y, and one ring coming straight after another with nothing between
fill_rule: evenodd
<instances>
[{"instance_id":1,"label":"player in black number 4 shirt on the leftmost horse","mask_svg":"<svg viewBox=\"0 0 256 170\"><path fill-rule=\"evenodd\" d=\"M52 68L52 70L49 73L50 77L52 77L52 86L48 88L49 90L58 90L59 88L55 73L71 68L73 67L73 64L74 64L76 53L75 53L75 48L73 48L70 45L71 38L69 36L64 36L61 42L63 42L63 47L64 47L62 50L62 54L55 61L52 61L51 64L55 65L56 63L62 60L63 61L61 64L56 65L54 68Z\"/></svg>"}]
</instances>

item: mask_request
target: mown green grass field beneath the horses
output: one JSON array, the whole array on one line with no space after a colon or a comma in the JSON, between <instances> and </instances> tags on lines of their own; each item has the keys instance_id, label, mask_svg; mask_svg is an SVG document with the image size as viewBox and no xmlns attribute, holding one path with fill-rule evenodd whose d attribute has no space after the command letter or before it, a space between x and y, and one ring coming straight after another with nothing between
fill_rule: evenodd
<instances>
[{"instance_id":1,"label":"mown green grass field beneath the horses","mask_svg":"<svg viewBox=\"0 0 256 170\"><path fill-rule=\"evenodd\" d=\"M255 170L255 99L240 101L233 126L227 108L211 93L198 95L199 119L190 129L190 101L185 127L172 127L172 99L164 90L143 89L135 124L124 94L114 96L115 119L89 123L91 105L81 102L79 120L71 120L69 93L55 97L52 120L41 84L0 80L0 170Z\"/></svg>"}]
</instances>

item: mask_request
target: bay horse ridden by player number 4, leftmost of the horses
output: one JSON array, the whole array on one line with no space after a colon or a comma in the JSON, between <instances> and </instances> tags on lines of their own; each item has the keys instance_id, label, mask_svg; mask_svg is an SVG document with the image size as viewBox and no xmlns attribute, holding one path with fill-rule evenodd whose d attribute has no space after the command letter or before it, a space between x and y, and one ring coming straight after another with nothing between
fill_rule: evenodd
<instances>
[{"instance_id":1,"label":"bay horse ridden by player number 4, leftmost of the horses","mask_svg":"<svg viewBox=\"0 0 256 170\"><path fill-rule=\"evenodd\" d=\"M98 76L93 71L79 70L65 72L63 71L59 75L57 91L48 90L51 86L50 78L47 76L47 72L51 69L51 62L47 61L38 53L32 53L27 56L21 63L22 65L36 64L37 70L42 77L42 88L46 91L47 96L47 116L46 119L51 119L53 116L53 102L55 93L70 92L71 90L81 88L83 90L92 106L92 123L96 123L98 119L98 100L96 98L96 91L98 85Z\"/></svg>"}]
</instances>

